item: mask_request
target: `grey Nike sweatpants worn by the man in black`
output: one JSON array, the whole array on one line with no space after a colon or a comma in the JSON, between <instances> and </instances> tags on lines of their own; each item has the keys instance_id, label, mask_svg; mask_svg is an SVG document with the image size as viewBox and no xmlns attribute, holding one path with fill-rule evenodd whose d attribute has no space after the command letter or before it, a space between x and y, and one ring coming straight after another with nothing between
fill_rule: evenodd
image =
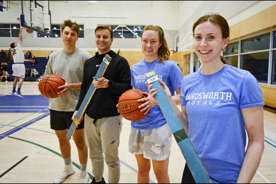
<instances>
[{"instance_id":1,"label":"grey Nike sweatpants worn by the man in black","mask_svg":"<svg viewBox=\"0 0 276 184\"><path fill-rule=\"evenodd\" d=\"M89 148L92 173L96 182L101 181L103 177L105 158L108 165L108 183L119 183L118 147L122 130L122 116L101 118L95 121L85 114L84 119L85 142Z\"/></svg>"}]
</instances>

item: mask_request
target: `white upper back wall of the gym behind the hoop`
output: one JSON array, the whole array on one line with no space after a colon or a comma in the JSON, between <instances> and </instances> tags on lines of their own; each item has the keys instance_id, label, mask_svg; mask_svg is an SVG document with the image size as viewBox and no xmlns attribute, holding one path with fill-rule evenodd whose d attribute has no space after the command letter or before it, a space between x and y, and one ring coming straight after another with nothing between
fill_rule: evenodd
<instances>
[{"instance_id":1,"label":"white upper back wall of the gym behind the hoop","mask_svg":"<svg viewBox=\"0 0 276 184\"><path fill-rule=\"evenodd\" d=\"M115 2L115 3L114 3ZM38 1L41 3L41 1ZM84 49L97 49L95 46L94 30L98 24L124 25L159 25L163 28L169 48L173 47L173 40L177 35L178 23L172 17L178 17L178 3L176 1L104 1L104 3L88 3L88 1L49 1L52 24L60 24L63 20L72 19L85 26L85 39L79 39L77 46ZM71 11L125 11L126 18L93 18L72 17ZM20 1L11 1L7 11L0 12L0 23L19 23L16 17L21 14ZM0 48L8 49L10 43L18 38L0 37ZM48 47L62 47L58 38L24 38L24 49L48 50ZM141 48L139 39L115 39L112 49L134 50Z\"/></svg>"}]
</instances>

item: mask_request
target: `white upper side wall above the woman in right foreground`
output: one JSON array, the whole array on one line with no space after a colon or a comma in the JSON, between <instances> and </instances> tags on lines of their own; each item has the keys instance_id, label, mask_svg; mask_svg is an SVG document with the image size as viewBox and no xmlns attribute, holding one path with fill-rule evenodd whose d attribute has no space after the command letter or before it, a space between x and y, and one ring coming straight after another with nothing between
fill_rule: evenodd
<instances>
[{"instance_id":1,"label":"white upper side wall above the woman in right foreground","mask_svg":"<svg viewBox=\"0 0 276 184\"><path fill-rule=\"evenodd\" d=\"M192 32L193 23L206 13L221 14L231 26L275 4L276 1L181 1L179 5L179 42L182 42L187 34ZM185 15L183 9L188 9L189 14Z\"/></svg>"}]
</instances>

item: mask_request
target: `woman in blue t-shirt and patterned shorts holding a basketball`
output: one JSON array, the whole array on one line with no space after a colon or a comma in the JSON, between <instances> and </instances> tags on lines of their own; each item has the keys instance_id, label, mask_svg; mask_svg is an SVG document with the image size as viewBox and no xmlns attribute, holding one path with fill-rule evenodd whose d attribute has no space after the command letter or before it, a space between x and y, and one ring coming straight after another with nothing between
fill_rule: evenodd
<instances>
[{"instance_id":1,"label":"woman in blue t-shirt and patterned shorts holding a basketball","mask_svg":"<svg viewBox=\"0 0 276 184\"><path fill-rule=\"evenodd\" d=\"M177 93L173 98L180 105L183 76L177 63L169 60L170 50L161 27L148 25L143 29L142 51L145 58L131 68L131 85L148 92L144 74L154 70L170 92ZM145 101L139 108L148 114L142 120L131 122L128 147L129 152L135 154L138 163L138 183L150 182L150 160L158 183L170 183L168 163L172 132L154 98L149 95L139 101Z\"/></svg>"}]
</instances>

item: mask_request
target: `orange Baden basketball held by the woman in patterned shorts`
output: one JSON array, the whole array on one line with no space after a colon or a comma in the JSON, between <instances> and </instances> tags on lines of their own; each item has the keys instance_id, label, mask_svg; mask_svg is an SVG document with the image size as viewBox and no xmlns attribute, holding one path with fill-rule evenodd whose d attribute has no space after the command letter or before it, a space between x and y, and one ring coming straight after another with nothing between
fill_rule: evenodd
<instances>
[{"instance_id":1,"label":"orange Baden basketball held by the woman in patterned shorts","mask_svg":"<svg viewBox=\"0 0 276 184\"><path fill-rule=\"evenodd\" d=\"M143 114L144 112L140 112L141 109L138 108L144 102L138 102L137 100L147 97L147 95L142 93L143 91L139 89L130 89L120 96L118 109L121 116L130 121L138 121L147 115Z\"/></svg>"}]
</instances>

